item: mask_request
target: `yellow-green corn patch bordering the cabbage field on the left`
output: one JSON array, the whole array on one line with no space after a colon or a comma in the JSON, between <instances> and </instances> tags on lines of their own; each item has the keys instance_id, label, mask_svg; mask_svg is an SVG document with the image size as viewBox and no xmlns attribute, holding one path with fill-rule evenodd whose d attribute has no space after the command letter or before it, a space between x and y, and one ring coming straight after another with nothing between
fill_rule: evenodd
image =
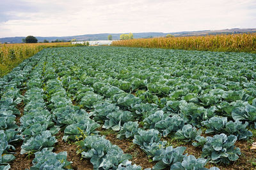
<instances>
[{"instance_id":1,"label":"yellow-green corn patch bordering the cabbage field on the left","mask_svg":"<svg viewBox=\"0 0 256 170\"><path fill-rule=\"evenodd\" d=\"M24 59L35 55L44 48L77 46L71 43L0 44L0 77L12 71Z\"/></svg>"}]
</instances>

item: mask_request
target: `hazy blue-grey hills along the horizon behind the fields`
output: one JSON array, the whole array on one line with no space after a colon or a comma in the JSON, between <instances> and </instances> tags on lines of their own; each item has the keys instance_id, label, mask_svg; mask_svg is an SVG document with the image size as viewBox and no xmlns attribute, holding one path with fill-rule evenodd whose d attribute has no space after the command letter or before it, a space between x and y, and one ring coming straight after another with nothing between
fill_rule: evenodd
<instances>
[{"instance_id":1,"label":"hazy blue-grey hills along the horizon behind the fields","mask_svg":"<svg viewBox=\"0 0 256 170\"><path fill-rule=\"evenodd\" d=\"M209 34L241 34L244 32L256 32L256 29L223 29L217 31L182 31L182 32L140 32L140 33L133 33L134 38L152 38L152 37L161 37L166 36L166 34L172 34L174 36L205 36ZM113 40L117 40L120 38L121 34L128 34L127 33L120 33L120 34L111 34ZM104 34L84 34L81 36L61 36L61 37L37 37L38 42L43 42L44 39L48 40L49 42L54 41L56 39L70 41L71 39L77 39L77 41L90 41L90 40L107 40L108 33ZM1 43L22 43L22 39L26 37L9 37L9 38L0 38Z\"/></svg>"}]
</instances>

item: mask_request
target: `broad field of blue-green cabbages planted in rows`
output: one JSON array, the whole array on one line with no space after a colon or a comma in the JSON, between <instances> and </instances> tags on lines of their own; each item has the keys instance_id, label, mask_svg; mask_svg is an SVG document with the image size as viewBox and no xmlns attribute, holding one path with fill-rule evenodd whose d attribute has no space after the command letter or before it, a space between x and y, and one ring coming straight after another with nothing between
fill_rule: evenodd
<instances>
[{"instance_id":1,"label":"broad field of blue-green cabbages planted in rows","mask_svg":"<svg viewBox=\"0 0 256 170\"><path fill-rule=\"evenodd\" d=\"M255 70L253 53L44 49L0 78L0 169L253 169Z\"/></svg>"}]
</instances>

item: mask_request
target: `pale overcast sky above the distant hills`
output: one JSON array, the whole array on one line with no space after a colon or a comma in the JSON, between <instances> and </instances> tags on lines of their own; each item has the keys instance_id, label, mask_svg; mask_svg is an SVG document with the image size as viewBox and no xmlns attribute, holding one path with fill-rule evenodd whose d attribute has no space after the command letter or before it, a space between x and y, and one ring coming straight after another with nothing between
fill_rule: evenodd
<instances>
[{"instance_id":1,"label":"pale overcast sky above the distant hills","mask_svg":"<svg viewBox=\"0 0 256 170\"><path fill-rule=\"evenodd\" d=\"M256 0L0 0L0 37L256 28Z\"/></svg>"}]
</instances>

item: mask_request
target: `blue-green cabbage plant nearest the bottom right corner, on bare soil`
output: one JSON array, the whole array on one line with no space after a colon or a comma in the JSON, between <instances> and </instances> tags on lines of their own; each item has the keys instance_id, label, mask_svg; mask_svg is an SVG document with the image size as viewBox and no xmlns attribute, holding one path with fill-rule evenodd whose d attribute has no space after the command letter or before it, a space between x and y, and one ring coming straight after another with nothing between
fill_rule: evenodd
<instances>
[{"instance_id":1,"label":"blue-green cabbage plant nearest the bottom right corner, on bare soil","mask_svg":"<svg viewBox=\"0 0 256 170\"><path fill-rule=\"evenodd\" d=\"M229 164L241 155L240 148L235 148L237 137L234 135L216 134L213 137L206 137L202 157L207 157L210 162Z\"/></svg>"}]
</instances>

